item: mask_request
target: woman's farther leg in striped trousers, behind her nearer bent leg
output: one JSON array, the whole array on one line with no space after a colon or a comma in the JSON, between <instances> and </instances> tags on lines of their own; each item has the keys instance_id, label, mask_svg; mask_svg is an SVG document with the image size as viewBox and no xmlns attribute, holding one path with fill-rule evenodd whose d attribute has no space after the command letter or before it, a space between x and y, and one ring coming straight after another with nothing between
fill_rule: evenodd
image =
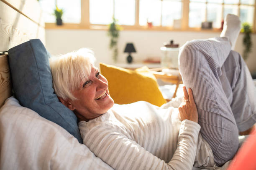
<instances>
[{"instance_id":1,"label":"woman's farther leg in striped trousers, behind her nearer bent leg","mask_svg":"<svg viewBox=\"0 0 256 170\"><path fill-rule=\"evenodd\" d=\"M239 132L251 128L256 122L256 90L251 74L238 52L231 51L221 67L220 76Z\"/></svg>"}]
</instances>

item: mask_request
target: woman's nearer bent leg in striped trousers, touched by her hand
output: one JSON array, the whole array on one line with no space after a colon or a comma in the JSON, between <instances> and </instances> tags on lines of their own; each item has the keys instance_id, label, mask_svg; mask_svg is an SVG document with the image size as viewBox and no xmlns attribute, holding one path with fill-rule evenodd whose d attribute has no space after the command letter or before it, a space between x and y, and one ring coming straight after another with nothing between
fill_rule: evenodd
<instances>
[{"instance_id":1,"label":"woman's nearer bent leg in striped trousers, touched by her hand","mask_svg":"<svg viewBox=\"0 0 256 170\"><path fill-rule=\"evenodd\" d=\"M217 165L232 159L238 149L236 120L220 80L230 49L228 39L218 37L187 42L179 53L179 71L184 85L193 90L200 132Z\"/></svg>"}]
</instances>

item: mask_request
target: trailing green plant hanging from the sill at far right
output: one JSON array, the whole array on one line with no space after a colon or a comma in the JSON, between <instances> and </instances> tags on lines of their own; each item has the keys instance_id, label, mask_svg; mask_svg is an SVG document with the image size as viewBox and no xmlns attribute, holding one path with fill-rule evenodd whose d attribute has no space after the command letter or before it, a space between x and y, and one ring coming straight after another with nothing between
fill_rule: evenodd
<instances>
[{"instance_id":1,"label":"trailing green plant hanging from the sill at far right","mask_svg":"<svg viewBox=\"0 0 256 170\"><path fill-rule=\"evenodd\" d=\"M246 60L248 58L248 54L251 52L251 46L252 46L252 42L251 42L252 28L251 28L251 25L249 23L243 23L241 32L244 33L243 45L244 45L245 49L243 50L243 59Z\"/></svg>"}]
</instances>

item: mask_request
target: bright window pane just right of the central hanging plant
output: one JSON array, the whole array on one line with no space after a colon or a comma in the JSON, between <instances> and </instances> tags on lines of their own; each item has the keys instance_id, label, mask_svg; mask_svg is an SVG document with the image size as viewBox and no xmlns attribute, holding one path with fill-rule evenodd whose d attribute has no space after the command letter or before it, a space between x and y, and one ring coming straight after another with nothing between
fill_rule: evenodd
<instances>
[{"instance_id":1,"label":"bright window pane just right of the central hanging plant","mask_svg":"<svg viewBox=\"0 0 256 170\"><path fill-rule=\"evenodd\" d=\"M115 18L120 25L134 25L135 0L115 0Z\"/></svg>"}]
</instances>

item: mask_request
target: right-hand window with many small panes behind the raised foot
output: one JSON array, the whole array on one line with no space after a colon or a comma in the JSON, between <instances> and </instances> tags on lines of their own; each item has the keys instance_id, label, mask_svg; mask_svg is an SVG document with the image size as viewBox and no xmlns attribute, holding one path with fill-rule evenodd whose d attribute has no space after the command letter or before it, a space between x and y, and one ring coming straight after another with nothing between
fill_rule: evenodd
<instances>
[{"instance_id":1,"label":"right-hand window with many small panes behind the raised foot","mask_svg":"<svg viewBox=\"0 0 256 170\"><path fill-rule=\"evenodd\" d=\"M189 27L200 27L204 21L211 21L213 28L220 28L228 13L238 15L241 23L253 25L254 0L190 0Z\"/></svg>"}]
</instances>

